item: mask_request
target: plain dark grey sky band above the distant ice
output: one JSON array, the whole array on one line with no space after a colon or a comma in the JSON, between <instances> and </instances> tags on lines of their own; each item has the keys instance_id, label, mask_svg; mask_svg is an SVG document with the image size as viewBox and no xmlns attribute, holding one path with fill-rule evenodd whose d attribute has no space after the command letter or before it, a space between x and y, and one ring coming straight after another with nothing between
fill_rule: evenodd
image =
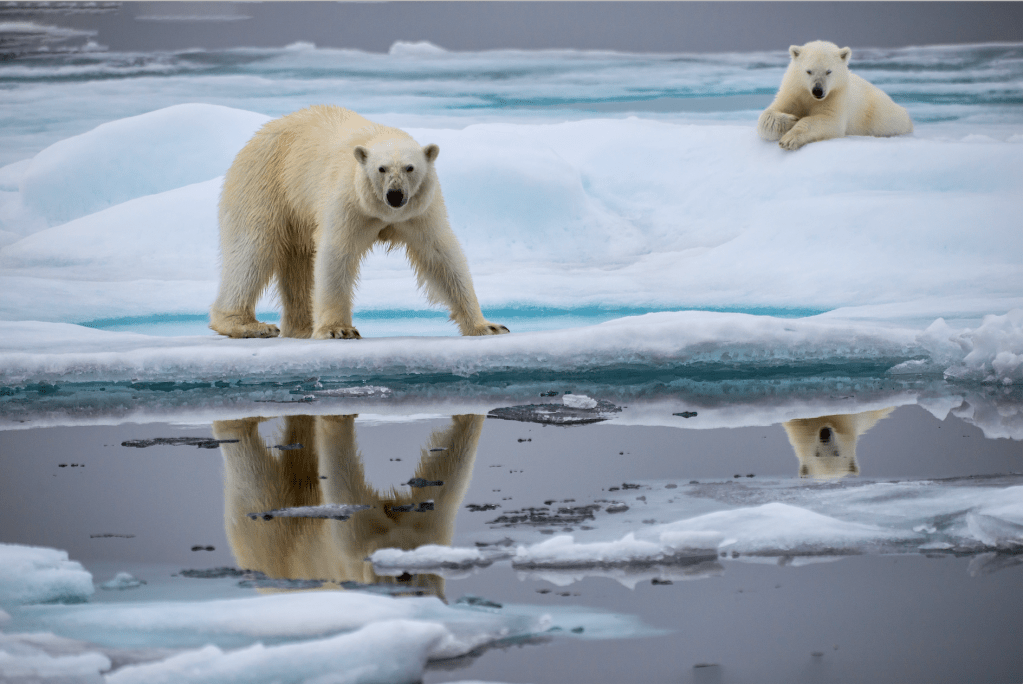
<instances>
[{"instance_id":1,"label":"plain dark grey sky band above the distant ice","mask_svg":"<svg viewBox=\"0 0 1023 684\"><path fill-rule=\"evenodd\" d=\"M25 7L24 5L21 6ZM397 40L494 48L706 52L1023 42L1021 2L129 2L106 13L0 20L98 32L112 50L320 47L383 52Z\"/></svg>"}]
</instances>

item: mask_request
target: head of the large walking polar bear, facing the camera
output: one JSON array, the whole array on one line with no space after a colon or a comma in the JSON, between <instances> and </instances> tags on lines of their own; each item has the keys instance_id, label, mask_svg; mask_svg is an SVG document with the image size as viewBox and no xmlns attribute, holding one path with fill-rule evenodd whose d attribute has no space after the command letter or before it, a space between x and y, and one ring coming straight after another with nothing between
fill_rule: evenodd
<instances>
[{"instance_id":1,"label":"head of the large walking polar bear, facing the camera","mask_svg":"<svg viewBox=\"0 0 1023 684\"><path fill-rule=\"evenodd\" d=\"M437 145L420 147L409 137L382 136L356 145L352 150L366 180L361 196L370 214L395 218L395 214L414 216L433 201L437 185L434 159Z\"/></svg>"}]
</instances>

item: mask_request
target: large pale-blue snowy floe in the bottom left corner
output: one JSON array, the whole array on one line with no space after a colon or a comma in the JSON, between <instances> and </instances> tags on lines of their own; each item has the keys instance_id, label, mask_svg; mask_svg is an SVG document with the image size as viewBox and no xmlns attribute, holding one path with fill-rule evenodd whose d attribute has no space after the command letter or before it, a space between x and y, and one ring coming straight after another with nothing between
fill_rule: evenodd
<instances>
[{"instance_id":1,"label":"large pale-blue snowy floe in the bottom left corner","mask_svg":"<svg viewBox=\"0 0 1023 684\"><path fill-rule=\"evenodd\" d=\"M48 550L59 554L55 550ZM529 637L628 638L655 631L580 608L361 592L213 601L19 606L0 633L0 674L106 682L413 682L427 662ZM5 629L11 627L4 625ZM573 632L573 630L575 630ZM159 646L159 648L153 648Z\"/></svg>"}]
</instances>

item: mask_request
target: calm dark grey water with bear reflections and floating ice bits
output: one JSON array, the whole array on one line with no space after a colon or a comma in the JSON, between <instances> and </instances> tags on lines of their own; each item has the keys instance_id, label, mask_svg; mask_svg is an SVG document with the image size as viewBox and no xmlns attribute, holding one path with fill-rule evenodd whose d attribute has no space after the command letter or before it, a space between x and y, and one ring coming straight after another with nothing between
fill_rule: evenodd
<instances>
[{"instance_id":1,"label":"calm dark grey water with bear reflections and floating ice bits","mask_svg":"<svg viewBox=\"0 0 1023 684\"><path fill-rule=\"evenodd\" d=\"M742 487L757 501L782 496L776 492L791 498L807 488L875 482L1023 483L1014 474L1023 472L1018 441L985 439L964 420L938 420L919 406L880 413L860 424L854 440L858 472L848 472L846 459L838 468L843 476L817 480L799 476L805 458L797 456L794 422L788 430L782 424L699 429L697 423L544 426L482 415L293 415L8 429L0 432L0 541L65 549L97 585L120 571L146 582L131 591L97 591L93 602L242 597L259 589L244 580L239 585L237 577L198 579L181 571L243 567L261 577L308 579L320 545L285 549L274 535L330 534L358 519L252 520L246 513L257 511L249 508L343 496L386 509L429 495L436 510L391 515L397 520L392 542L471 547L501 539L534 544L566 531L618 539L643 525L702 512L712 497L700 495L693 481ZM816 427L811 432L819 438ZM212 449L122 446L185 437L238 442ZM446 484L403 486L415 475ZM664 499L664 492L683 491L673 504ZM628 510L609 514L609 501ZM894 506L889 513L897 514ZM566 507L583 509L583 519L559 518L555 512ZM508 523L529 510L546 513ZM870 514L880 518L886 510L882 502ZM1011 552L864 551L756 562L724 556L695 569L629 575L591 568L574 577L515 569L505 561L460 576L396 579L375 575L361 560L387 545L364 528L345 547L351 557L332 558L337 569L328 585L359 582L369 590L436 593L449 602L474 595L598 608L658 631L491 648L432 664L427 682L1023 680L1023 556Z\"/></svg>"}]
</instances>

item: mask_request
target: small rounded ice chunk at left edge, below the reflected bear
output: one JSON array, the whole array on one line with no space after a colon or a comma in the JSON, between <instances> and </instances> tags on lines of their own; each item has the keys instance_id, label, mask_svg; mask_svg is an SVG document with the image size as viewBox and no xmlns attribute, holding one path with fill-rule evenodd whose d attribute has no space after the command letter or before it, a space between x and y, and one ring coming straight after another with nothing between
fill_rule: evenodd
<instances>
[{"instance_id":1,"label":"small rounded ice chunk at left edge, below the reflected bear","mask_svg":"<svg viewBox=\"0 0 1023 684\"><path fill-rule=\"evenodd\" d=\"M94 591L92 575L66 551L0 544L0 604L78 603Z\"/></svg>"}]
</instances>

